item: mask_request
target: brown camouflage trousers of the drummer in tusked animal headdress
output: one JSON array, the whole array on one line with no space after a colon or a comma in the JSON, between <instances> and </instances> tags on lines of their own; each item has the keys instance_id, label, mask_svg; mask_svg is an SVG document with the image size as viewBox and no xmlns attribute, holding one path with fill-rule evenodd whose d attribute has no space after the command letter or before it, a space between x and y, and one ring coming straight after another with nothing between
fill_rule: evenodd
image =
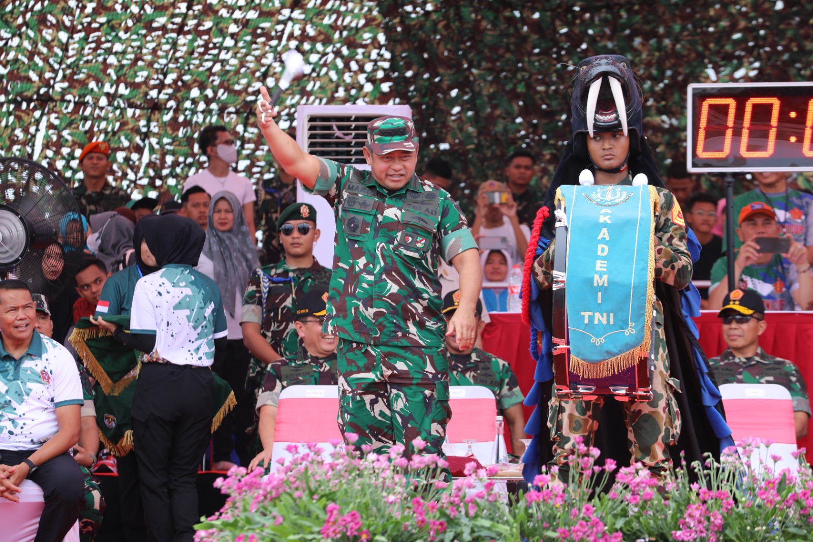
<instances>
[{"instance_id":1,"label":"brown camouflage trousers of the drummer in tusked animal headdress","mask_svg":"<svg viewBox=\"0 0 813 542\"><path fill-rule=\"evenodd\" d=\"M652 474L663 479L672 465L668 446L675 444L680 436L680 411L675 399L675 393L680 391L680 382L669 377L666 337L660 322L654 339L657 356L654 369L650 370L652 400L623 403L624 422L631 461L641 461ZM585 446L593 445L593 436L598 429L598 413L605 400L606 396L598 396L594 400L559 400L554 388L548 404L548 427L550 438L554 441L554 459L550 466L559 466L559 479L563 482L567 481L567 460L576 451L574 438L581 436Z\"/></svg>"}]
</instances>

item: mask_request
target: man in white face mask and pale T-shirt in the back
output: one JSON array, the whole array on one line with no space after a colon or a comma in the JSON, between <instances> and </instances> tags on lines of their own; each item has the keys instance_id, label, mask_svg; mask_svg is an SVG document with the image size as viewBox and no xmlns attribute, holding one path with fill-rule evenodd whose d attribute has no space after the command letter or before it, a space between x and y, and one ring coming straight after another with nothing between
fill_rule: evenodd
<instances>
[{"instance_id":1,"label":"man in white face mask and pale T-shirt in the back","mask_svg":"<svg viewBox=\"0 0 813 542\"><path fill-rule=\"evenodd\" d=\"M225 126L207 126L198 135L199 152L209 160L207 168L186 179L184 191L193 186L200 186L208 194L216 194L220 190L228 190L237 196L243 206L243 216L246 216L246 225L249 226L251 240L256 244L256 229L254 227L254 186L248 177L234 173L232 164L237 164L237 146Z\"/></svg>"}]
</instances>

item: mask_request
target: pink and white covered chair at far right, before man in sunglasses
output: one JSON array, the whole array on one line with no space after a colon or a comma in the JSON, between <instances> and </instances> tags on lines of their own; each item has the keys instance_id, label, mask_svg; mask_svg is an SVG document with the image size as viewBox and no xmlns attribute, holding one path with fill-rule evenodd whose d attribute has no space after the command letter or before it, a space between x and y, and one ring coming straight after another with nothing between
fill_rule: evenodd
<instances>
[{"instance_id":1,"label":"pink and white covered chair at far right, before man in sunglasses","mask_svg":"<svg viewBox=\"0 0 813 542\"><path fill-rule=\"evenodd\" d=\"M799 463L791 455L796 451L793 400L785 387L779 384L723 384L720 393L734 442L747 437L773 441L767 451L764 447L754 451L750 457L752 466L762 461L774 472L798 470ZM740 455L743 455L741 448ZM776 466L772 455L781 458L776 461Z\"/></svg>"}]
</instances>

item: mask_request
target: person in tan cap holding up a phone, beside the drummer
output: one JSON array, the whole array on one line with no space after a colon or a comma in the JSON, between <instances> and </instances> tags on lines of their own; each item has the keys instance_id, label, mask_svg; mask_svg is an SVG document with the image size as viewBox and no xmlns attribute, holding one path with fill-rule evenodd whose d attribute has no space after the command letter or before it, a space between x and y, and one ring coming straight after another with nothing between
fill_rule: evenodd
<instances>
[{"instance_id":1,"label":"person in tan cap holding up a phone, beside the drummer","mask_svg":"<svg viewBox=\"0 0 813 542\"><path fill-rule=\"evenodd\" d=\"M505 183L485 181L477 190L477 214L472 234L480 250L505 250L520 261L528 250L531 230L520 224L517 205Z\"/></svg>"}]
</instances>

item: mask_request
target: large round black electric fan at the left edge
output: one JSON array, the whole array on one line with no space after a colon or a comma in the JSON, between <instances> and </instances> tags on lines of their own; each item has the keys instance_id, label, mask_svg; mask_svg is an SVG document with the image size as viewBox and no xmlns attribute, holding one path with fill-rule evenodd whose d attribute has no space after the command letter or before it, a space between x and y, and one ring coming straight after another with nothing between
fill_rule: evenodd
<instances>
[{"instance_id":1,"label":"large round black electric fan at the left edge","mask_svg":"<svg viewBox=\"0 0 813 542\"><path fill-rule=\"evenodd\" d=\"M85 230L59 176L33 160L0 158L0 275L54 299L76 273Z\"/></svg>"}]
</instances>

